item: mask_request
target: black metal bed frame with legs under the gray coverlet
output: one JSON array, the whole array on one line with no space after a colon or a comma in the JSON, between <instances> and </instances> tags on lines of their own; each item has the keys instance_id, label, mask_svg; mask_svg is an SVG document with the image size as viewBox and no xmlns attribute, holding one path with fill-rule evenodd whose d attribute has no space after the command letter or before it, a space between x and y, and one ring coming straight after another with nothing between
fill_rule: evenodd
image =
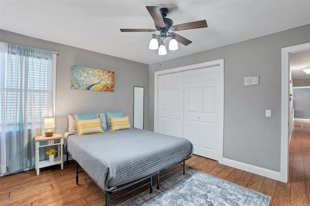
<instances>
[{"instance_id":1,"label":"black metal bed frame with legs under the gray coverlet","mask_svg":"<svg viewBox=\"0 0 310 206\"><path fill-rule=\"evenodd\" d=\"M177 169L179 169L179 168L181 168L181 167L183 167L183 175L184 175L184 174L185 174L185 161L188 160L189 158L191 158L191 156L185 158L185 159L182 160L181 162L178 162L178 163L176 163L176 164L173 164L172 166L170 166L170 167L168 167L168 168L166 168L166 169L157 171L157 172L153 173L152 175L149 175L149 176L146 176L146 177L142 177L142 178L140 178L140 179L138 179L138 180L135 180L135 181L133 181L133 182L130 182L130 183L128 183L128 184L126 184L126 185L124 185L124 186L122 186L122 187L120 187L120 188L117 188L117 189L115 189L115 190L113 190L113 191L104 191L104 190L103 190L103 191L106 193L106 206L109 206L109 203L110 203L110 202L112 202L112 201L114 201L114 200L117 200L117 199L119 199L119 198L121 198L121 197L123 197L123 196L125 196L125 195L127 195L127 194L129 194L129 193L131 193L131 192L133 192L133 191L136 191L136 190L138 190L138 189L140 189L140 188L142 188L142 187L144 187L144 186L146 186L146 185L150 185L150 193L152 193L152 192L153 192L153 187L152 187L152 186L153 186L153 176L156 176L156 180L157 180L157 187L156 187L156 189L159 190L159 178L164 177L164 176L170 174L171 172L176 171ZM76 162L77 162L77 161L76 161ZM68 163L68 153L67 153L67 163ZM173 166L175 166L175 165L178 165L178 164L180 164L178 167L176 167L176 168L174 168L174 169L172 169L172 170L170 170L170 171L168 171L168 172L166 172L166 173L160 175L160 172L161 172L161 171L170 169L171 167L173 167ZM77 177L76 177L77 185L78 185L78 174L81 173L81 172L85 172L84 170L80 170L80 171L79 171L79 170L78 170L78 166L80 166L80 165L79 165L78 162L77 162ZM80 166L80 168L82 168L82 167ZM82 168L82 169L83 169L83 168ZM85 172L85 173L89 176L89 174L88 174L87 172ZM89 176L89 177L90 177L90 176ZM92 178L92 177L90 177L90 178ZM93 178L92 178L92 179L93 179ZM149 180L148 180L148 179L149 179ZM127 189L127 188L129 188L129 187L131 187L131 186L133 186L133 185L136 185L136 184L138 184L138 183L140 183L140 182L142 182L142 181L144 181L144 180L146 180L147 182L144 183L144 184L142 184L142 185L140 185L140 186L137 186L137 187L131 189L130 191L127 191L127 192L125 192L125 193L123 193L123 194L119 194L119 195L116 196L116 197L113 197L113 198L111 197L111 194L114 194L114 193L119 192L119 191L123 191L124 189ZM95 182L95 181L93 181L93 182ZM99 186L98 186L98 187L99 187ZM100 188L100 187L99 187L99 188ZM101 189L101 188L100 188L100 189Z\"/></svg>"}]
</instances>

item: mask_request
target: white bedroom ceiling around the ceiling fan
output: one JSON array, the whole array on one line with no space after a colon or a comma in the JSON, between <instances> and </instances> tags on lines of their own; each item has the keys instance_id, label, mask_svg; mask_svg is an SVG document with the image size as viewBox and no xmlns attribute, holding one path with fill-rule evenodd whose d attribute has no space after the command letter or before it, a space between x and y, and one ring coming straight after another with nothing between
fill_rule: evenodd
<instances>
[{"instance_id":1,"label":"white bedroom ceiling around the ceiling fan","mask_svg":"<svg viewBox=\"0 0 310 206\"><path fill-rule=\"evenodd\" d=\"M208 28L176 31L191 40L160 56L145 6L171 9L176 24L206 19ZM0 29L145 64L182 57L310 24L310 0L0 0Z\"/></svg>"}]
</instances>

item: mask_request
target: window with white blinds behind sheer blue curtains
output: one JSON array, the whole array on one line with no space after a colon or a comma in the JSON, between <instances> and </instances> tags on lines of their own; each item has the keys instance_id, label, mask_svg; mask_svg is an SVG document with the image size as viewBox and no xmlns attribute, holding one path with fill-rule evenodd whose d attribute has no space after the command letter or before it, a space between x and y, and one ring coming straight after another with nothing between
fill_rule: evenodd
<instances>
[{"instance_id":1,"label":"window with white blinds behind sheer blue curtains","mask_svg":"<svg viewBox=\"0 0 310 206\"><path fill-rule=\"evenodd\" d=\"M50 101L53 101L49 93L46 92L48 89L50 89L48 87L47 79L50 60L47 57L30 57L27 60L32 63L29 65L28 72L26 72L24 69L18 68L16 65L19 64L18 60L20 58L23 58L23 61L26 61L26 57L18 58L16 54L11 54L10 61L6 62L7 69L10 70L12 74L14 74L8 75L8 73L5 73L4 86L6 90L4 95L6 97L6 124L9 126L16 122L15 114L19 114L18 105L21 102L25 102L26 99L28 110L26 114L23 114L23 117L27 116L28 125L40 125L42 123L42 118L48 117L50 115L50 112L48 111L48 105L50 104ZM25 75L28 76L27 85L22 84L22 80L17 79L18 77ZM27 87L26 90L25 87Z\"/></svg>"}]
</instances>

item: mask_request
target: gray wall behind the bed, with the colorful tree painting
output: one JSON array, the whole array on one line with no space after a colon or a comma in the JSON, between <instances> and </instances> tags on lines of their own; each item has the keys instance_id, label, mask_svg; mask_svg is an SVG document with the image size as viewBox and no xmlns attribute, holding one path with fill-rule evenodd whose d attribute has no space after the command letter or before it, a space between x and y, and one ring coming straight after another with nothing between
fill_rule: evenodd
<instances>
[{"instance_id":1,"label":"gray wall behind the bed, with the colorful tree painting","mask_svg":"<svg viewBox=\"0 0 310 206\"><path fill-rule=\"evenodd\" d=\"M5 30L0 30L0 41L59 52L56 77L56 132L63 134L68 130L69 113L123 110L125 115L130 116L130 123L133 125L133 87L140 86L146 91L149 90L148 65ZM72 65L113 71L115 91L71 89ZM145 117L148 117L148 100L148 92L145 92ZM147 119L144 122L145 128L148 128Z\"/></svg>"}]
</instances>

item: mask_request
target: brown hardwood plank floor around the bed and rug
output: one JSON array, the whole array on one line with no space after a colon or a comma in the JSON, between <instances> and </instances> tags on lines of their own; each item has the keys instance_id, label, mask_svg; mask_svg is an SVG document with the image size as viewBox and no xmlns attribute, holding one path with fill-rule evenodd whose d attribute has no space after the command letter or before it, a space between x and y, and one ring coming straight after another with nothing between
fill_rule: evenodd
<instances>
[{"instance_id":1,"label":"brown hardwood plank floor around the bed and rug","mask_svg":"<svg viewBox=\"0 0 310 206\"><path fill-rule=\"evenodd\" d=\"M309 121L294 122L289 158L289 183L225 166L196 155L186 161L186 167L192 166L202 172L271 196L271 206L310 206ZM75 181L76 164L73 161L64 165L63 170L58 165L43 168L40 176L36 176L35 170L30 170L0 177L0 205L105 205L104 192L90 177L80 173L79 185L76 185ZM147 187L110 203L110 206L120 204L144 190L147 190Z\"/></svg>"}]
</instances>

